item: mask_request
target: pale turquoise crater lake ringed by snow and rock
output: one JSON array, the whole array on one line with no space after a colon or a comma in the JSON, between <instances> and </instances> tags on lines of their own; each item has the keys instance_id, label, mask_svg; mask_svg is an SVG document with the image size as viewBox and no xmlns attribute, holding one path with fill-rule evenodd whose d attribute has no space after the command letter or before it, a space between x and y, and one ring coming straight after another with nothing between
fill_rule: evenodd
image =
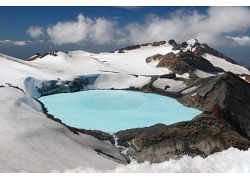
<instances>
[{"instance_id":1,"label":"pale turquoise crater lake ringed by snow and rock","mask_svg":"<svg viewBox=\"0 0 250 180\"><path fill-rule=\"evenodd\" d=\"M166 96L123 90L89 90L39 99L50 114L77 128L117 132L191 120L199 110Z\"/></svg>"}]
</instances>

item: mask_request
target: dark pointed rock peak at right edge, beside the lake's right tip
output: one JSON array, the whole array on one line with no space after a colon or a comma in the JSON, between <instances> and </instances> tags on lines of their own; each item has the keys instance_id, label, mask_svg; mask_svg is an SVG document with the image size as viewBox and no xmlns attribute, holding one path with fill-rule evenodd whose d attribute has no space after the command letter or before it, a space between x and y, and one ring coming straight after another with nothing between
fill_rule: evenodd
<instances>
[{"instance_id":1,"label":"dark pointed rock peak at right edge, beside the lake's right tip","mask_svg":"<svg viewBox=\"0 0 250 180\"><path fill-rule=\"evenodd\" d=\"M241 135L250 138L250 84L237 75L223 75L199 79L189 87L198 88L184 95L179 101L202 111L214 111L218 105L224 110L226 121ZM192 96L197 93L196 96Z\"/></svg>"}]
</instances>

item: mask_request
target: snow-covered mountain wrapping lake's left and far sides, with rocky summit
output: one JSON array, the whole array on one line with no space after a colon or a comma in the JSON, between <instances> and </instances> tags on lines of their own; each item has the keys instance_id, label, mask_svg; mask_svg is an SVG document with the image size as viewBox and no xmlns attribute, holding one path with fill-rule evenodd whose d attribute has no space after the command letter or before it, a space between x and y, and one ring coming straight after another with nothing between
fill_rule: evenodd
<instances>
[{"instance_id":1,"label":"snow-covered mountain wrapping lake's left and far sides, with rocky summit","mask_svg":"<svg viewBox=\"0 0 250 180\"><path fill-rule=\"evenodd\" d=\"M183 53L194 57L192 63ZM176 63L179 65L174 66ZM204 63L206 68L201 66ZM0 171L64 171L80 165L113 169L126 164L110 142L86 134L75 135L49 119L35 100L45 91L68 91L73 86L71 82L78 82L79 78L94 78L84 84L85 89L141 88L156 78L154 88L185 94L193 90L188 88L190 79L216 76L223 71L243 78L250 75L247 68L195 39L181 44L161 41L133 45L98 54L51 51L29 60L0 54ZM170 73L175 73L176 78L158 77Z\"/></svg>"}]
</instances>

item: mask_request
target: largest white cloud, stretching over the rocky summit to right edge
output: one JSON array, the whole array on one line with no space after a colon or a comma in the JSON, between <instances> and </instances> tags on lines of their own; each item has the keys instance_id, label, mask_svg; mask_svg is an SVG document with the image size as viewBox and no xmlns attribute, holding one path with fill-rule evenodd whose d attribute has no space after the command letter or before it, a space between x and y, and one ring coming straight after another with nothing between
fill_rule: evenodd
<instances>
[{"instance_id":1,"label":"largest white cloud, stretching over the rocky summit to right edge","mask_svg":"<svg viewBox=\"0 0 250 180\"><path fill-rule=\"evenodd\" d=\"M247 7L210 7L204 14L178 10L167 18L150 15L145 23L130 23L126 30L132 43L197 38L201 42L220 46L228 43L224 34L249 29L249 17L250 9Z\"/></svg>"}]
</instances>

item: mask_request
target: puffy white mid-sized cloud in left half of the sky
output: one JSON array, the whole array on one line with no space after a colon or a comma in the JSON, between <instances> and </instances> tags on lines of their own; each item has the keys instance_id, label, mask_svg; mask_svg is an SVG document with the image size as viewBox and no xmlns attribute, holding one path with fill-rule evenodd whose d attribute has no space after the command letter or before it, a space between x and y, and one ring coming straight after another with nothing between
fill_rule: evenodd
<instances>
[{"instance_id":1,"label":"puffy white mid-sized cloud in left half of the sky","mask_svg":"<svg viewBox=\"0 0 250 180\"><path fill-rule=\"evenodd\" d=\"M58 22L47 28L54 44L81 43L83 41L98 44L111 43L114 39L115 23L105 18L91 19L82 14L77 21Z\"/></svg>"}]
</instances>

